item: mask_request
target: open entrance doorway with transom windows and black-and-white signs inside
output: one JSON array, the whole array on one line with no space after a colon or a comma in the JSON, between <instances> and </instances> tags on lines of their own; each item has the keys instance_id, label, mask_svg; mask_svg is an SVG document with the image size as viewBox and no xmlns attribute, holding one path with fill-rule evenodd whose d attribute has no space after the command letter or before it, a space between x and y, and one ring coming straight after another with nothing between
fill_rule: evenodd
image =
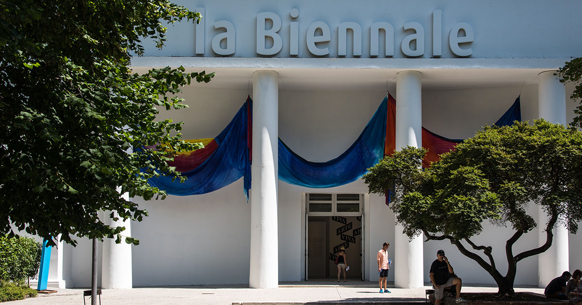
<instances>
[{"instance_id":1,"label":"open entrance doorway with transom windows and black-and-white signs inside","mask_svg":"<svg viewBox=\"0 0 582 305\"><path fill-rule=\"evenodd\" d=\"M346 249L347 279L363 274L363 213L360 194L307 194L306 281L337 279L335 259ZM341 274L343 281L343 271Z\"/></svg>"}]
</instances>

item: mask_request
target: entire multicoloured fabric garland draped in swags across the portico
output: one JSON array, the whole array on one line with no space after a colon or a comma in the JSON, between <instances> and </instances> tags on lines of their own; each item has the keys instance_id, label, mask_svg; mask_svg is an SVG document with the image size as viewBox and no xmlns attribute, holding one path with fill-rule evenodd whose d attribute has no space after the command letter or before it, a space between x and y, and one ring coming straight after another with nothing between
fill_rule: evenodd
<instances>
[{"instance_id":1,"label":"entire multicoloured fabric garland draped in swags across the portico","mask_svg":"<svg viewBox=\"0 0 582 305\"><path fill-rule=\"evenodd\" d=\"M279 180L308 188L330 188L356 181L382 157L395 150L396 101L386 95L360 136L341 155L328 162L310 162L297 155L279 139ZM521 120L520 98L503 114L496 125ZM251 187L252 100L247 101L232 121L216 137L188 140L202 142L203 149L179 153L171 166L186 176L180 183L171 177L151 178L152 186L171 195L198 195L223 188L244 177L244 195ZM428 149L423 167L438 160L441 153L454 149L460 139L449 139L423 127L423 147Z\"/></svg>"}]
</instances>

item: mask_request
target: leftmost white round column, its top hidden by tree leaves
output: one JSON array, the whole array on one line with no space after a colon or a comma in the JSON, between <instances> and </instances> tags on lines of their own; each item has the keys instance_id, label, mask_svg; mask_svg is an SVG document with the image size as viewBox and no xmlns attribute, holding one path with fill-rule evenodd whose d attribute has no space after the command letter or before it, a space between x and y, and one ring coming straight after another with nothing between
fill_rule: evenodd
<instances>
[{"instance_id":1,"label":"leftmost white round column, its top hidden by tree leaves","mask_svg":"<svg viewBox=\"0 0 582 305\"><path fill-rule=\"evenodd\" d=\"M129 193L123 194L129 200ZM107 213L106 213L107 214ZM106 216L107 217L107 216ZM125 227L122 236L132 236L131 221L113 221L107 217L111 227ZM104 289L131 289L133 287L132 272L132 245L122 238L121 243L115 243L115 238L103 239L103 261L101 269L101 283Z\"/></svg>"}]
</instances>

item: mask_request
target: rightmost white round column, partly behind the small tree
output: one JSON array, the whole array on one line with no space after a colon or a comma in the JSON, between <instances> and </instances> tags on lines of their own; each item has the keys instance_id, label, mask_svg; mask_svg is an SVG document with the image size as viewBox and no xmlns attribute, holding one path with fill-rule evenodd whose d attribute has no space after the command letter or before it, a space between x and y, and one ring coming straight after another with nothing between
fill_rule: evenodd
<instances>
[{"instance_id":1,"label":"rightmost white round column, partly behind the small tree","mask_svg":"<svg viewBox=\"0 0 582 305\"><path fill-rule=\"evenodd\" d=\"M551 123L566 125L566 87L553 74L557 71L545 71L538 75L538 115ZM544 245L548 221L546 212L538 206L538 245ZM559 225L552 230L552 246L538 255L538 285L545 287L562 272L570 270L568 253L568 230Z\"/></svg>"}]
</instances>

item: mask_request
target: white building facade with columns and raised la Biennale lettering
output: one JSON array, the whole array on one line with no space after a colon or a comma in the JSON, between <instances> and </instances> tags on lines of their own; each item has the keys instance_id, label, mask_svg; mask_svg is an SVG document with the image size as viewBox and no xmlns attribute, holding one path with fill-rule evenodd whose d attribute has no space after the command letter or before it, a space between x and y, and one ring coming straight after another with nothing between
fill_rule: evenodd
<instances>
[{"instance_id":1,"label":"white building facade with columns and raised la Biennale lettering","mask_svg":"<svg viewBox=\"0 0 582 305\"><path fill-rule=\"evenodd\" d=\"M582 3L563 1L184 1L200 24L169 27L166 46L145 42L134 70L184 66L215 71L208 84L183 88L189 105L161 118L184 121L185 139L216 137L253 98L253 186L242 179L217 191L139 202L150 216L127 223L139 246L100 247L104 288L249 284L335 277L333 255L346 249L353 281L376 281L376 253L389 242L396 287L428 279L444 249L466 283L493 279L447 242L409 241L385 198L362 180L308 188L278 180L278 138L310 162L341 155L389 92L396 98L396 149L421 146L421 127L446 138L471 137L517 97L521 117L572 121L573 85L554 73L582 55ZM537 206L531 215L545 221ZM504 270L510 228L486 225L476 242L493 246ZM518 265L516 284L545 286L570 268L580 236L555 232L548 252ZM537 247L525 234L517 250ZM337 249L336 249L337 248ZM91 242L52 252L49 280L89 286ZM502 272L503 273L503 272Z\"/></svg>"}]
</instances>

